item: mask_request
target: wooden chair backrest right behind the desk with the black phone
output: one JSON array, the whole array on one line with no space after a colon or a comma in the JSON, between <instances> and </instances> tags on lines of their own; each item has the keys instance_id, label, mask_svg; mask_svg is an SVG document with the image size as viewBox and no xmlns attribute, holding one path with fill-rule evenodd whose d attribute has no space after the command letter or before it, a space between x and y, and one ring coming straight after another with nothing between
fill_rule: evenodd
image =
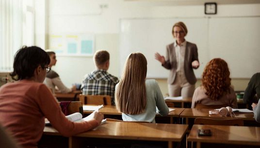
<instances>
[{"instance_id":1,"label":"wooden chair backrest right behind the desk with the black phone","mask_svg":"<svg viewBox=\"0 0 260 148\"><path fill-rule=\"evenodd\" d=\"M234 119L195 118L194 124L244 126L244 121L241 118L234 118Z\"/></svg>"}]
</instances>

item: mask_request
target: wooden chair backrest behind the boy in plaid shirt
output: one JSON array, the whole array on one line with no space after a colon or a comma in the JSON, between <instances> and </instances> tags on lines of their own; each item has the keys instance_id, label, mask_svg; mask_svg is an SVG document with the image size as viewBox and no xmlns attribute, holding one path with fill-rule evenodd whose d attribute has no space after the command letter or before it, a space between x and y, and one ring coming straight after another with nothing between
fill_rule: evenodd
<instances>
[{"instance_id":1,"label":"wooden chair backrest behind the boy in plaid shirt","mask_svg":"<svg viewBox=\"0 0 260 148\"><path fill-rule=\"evenodd\" d=\"M80 95L82 104L111 105L111 97L108 95Z\"/></svg>"}]
</instances>

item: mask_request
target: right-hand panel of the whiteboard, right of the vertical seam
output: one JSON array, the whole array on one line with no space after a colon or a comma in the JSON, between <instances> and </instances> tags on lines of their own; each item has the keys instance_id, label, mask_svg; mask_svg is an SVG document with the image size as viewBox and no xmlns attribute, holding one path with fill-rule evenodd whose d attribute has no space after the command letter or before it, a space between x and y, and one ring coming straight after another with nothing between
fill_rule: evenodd
<instances>
[{"instance_id":1,"label":"right-hand panel of the whiteboard, right of the vertical seam","mask_svg":"<svg viewBox=\"0 0 260 148\"><path fill-rule=\"evenodd\" d=\"M260 72L260 17L209 20L209 55L227 61L231 77Z\"/></svg>"}]
</instances>

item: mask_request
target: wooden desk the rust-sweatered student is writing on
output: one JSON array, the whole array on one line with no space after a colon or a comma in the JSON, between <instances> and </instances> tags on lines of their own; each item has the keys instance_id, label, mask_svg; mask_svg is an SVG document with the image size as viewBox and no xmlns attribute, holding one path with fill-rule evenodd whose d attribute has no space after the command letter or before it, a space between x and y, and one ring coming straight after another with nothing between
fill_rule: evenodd
<instances>
[{"instance_id":1,"label":"wooden desk the rust-sweatered student is writing on","mask_svg":"<svg viewBox=\"0 0 260 148\"><path fill-rule=\"evenodd\" d=\"M68 148L83 148L89 144L100 144L106 139L119 141L166 142L167 148L173 148L175 142L181 142L188 129L182 124L153 124L137 122L106 122L96 129L68 138ZM53 136L54 135L54 136ZM45 127L43 137L60 135L54 128ZM61 136L61 135L60 135ZM91 139L91 140L90 140ZM125 141L124 141L125 142ZM123 142L123 143L124 143ZM130 142L130 141L128 141ZM41 140L41 144L45 141Z\"/></svg>"}]
</instances>

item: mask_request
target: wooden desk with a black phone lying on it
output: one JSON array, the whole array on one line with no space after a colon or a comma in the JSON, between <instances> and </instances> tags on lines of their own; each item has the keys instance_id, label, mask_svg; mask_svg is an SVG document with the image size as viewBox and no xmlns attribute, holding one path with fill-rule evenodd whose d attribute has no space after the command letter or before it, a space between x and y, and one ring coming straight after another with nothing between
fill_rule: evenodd
<instances>
[{"instance_id":1,"label":"wooden desk with a black phone lying on it","mask_svg":"<svg viewBox=\"0 0 260 148\"><path fill-rule=\"evenodd\" d=\"M212 135L198 136L198 129L210 129ZM205 148L260 146L260 127L193 125L188 141L196 142L196 148L202 148L203 146ZM216 144L222 144L222 146Z\"/></svg>"}]
</instances>

